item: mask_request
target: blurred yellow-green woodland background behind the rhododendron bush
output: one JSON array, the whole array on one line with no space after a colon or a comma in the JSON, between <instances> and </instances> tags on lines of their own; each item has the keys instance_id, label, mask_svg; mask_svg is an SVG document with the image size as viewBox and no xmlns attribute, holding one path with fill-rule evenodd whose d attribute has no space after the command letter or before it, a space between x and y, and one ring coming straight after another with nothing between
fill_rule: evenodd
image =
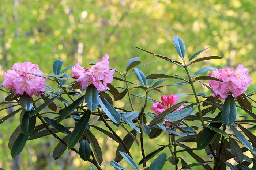
<instances>
[{"instance_id":1,"label":"blurred yellow-green woodland background behind the rhododendron bush","mask_svg":"<svg viewBox=\"0 0 256 170\"><path fill-rule=\"evenodd\" d=\"M161 61L143 67L141 70L146 76L162 73L179 74L186 78L184 70L176 65L133 48L137 46L181 61L172 40L177 35L185 42L186 57L206 47L212 48L199 57L224 57L193 65L189 70L191 74L206 66L235 70L239 63L243 63L249 68L249 76L252 77L252 85L248 91L254 90L255 7L253 0L0 0L0 75L11 69L16 62L38 63L39 69L45 74L53 74L52 65L56 59L64 61L63 67L76 62L83 67L90 67L86 61L97 62L108 53L110 67L116 67L121 72L130 58L140 57L142 64ZM70 70L68 74L71 75ZM129 80L139 83L134 73L130 75ZM0 80L3 81L3 77ZM167 80L165 83L174 82L177 80ZM46 83L51 85L51 82ZM113 85L119 84L113 82ZM57 89L56 85L54 87ZM210 95L199 84L197 89L198 92ZM161 90L165 95L192 92L184 85ZM140 92L143 94L143 91ZM3 100L6 95L0 95L0 99ZM160 100L161 95L155 93L149 97ZM136 109L139 110L143 100L134 100ZM126 101L118 101L114 105L129 107ZM150 111L151 103L148 105L147 111ZM0 118L5 115L7 111L0 112ZM97 119L93 119L95 124L103 127L101 122L96 122ZM58 141L52 136L28 141L22 154L12 159L8 139L18 125L17 114L0 126L0 167L5 170L79 170L91 166L71 151L54 161L52 151ZM118 144L101 132L92 131L102 146L103 163L109 164L114 159ZM122 131L117 130L117 133L124 137ZM144 141L147 155L160 147L157 144L167 144L168 138L167 134L162 134L161 138L148 140L146 137ZM141 159L139 150L140 147L136 144L131 148L136 162ZM164 151L169 154L168 148ZM195 163L186 154L182 157L185 157L187 163ZM125 161L121 161L121 165L129 169ZM165 169L174 169L174 166L166 162Z\"/></svg>"}]
</instances>

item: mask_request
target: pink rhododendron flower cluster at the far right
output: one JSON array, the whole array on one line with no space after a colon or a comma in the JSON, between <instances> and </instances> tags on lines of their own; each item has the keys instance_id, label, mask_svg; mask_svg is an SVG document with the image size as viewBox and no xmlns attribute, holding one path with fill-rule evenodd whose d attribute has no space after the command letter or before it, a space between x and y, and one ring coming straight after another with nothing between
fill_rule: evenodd
<instances>
[{"instance_id":1,"label":"pink rhododendron flower cluster at the far right","mask_svg":"<svg viewBox=\"0 0 256 170\"><path fill-rule=\"evenodd\" d=\"M229 68L219 70L215 68L212 74L222 82L209 80L209 85L220 99L227 98L229 93L232 93L236 99L237 96L247 90L247 86L252 82L252 78L248 76L248 73L249 69L244 68L242 64L238 65L235 72ZM212 74L210 73L208 76L213 77ZM212 93L212 96L216 97L214 93Z\"/></svg>"}]
</instances>

